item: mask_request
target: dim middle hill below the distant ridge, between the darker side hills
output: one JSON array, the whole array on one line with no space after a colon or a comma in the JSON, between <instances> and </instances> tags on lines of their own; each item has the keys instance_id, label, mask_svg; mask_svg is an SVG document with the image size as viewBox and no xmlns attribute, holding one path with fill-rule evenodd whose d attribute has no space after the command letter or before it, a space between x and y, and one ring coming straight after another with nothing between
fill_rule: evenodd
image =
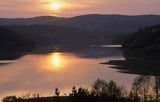
<instances>
[{"instance_id":1,"label":"dim middle hill below the distant ridge, between the darker side hills","mask_svg":"<svg viewBox=\"0 0 160 102\"><path fill-rule=\"evenodd\" d=\"M101 41L101 37L105 37L104 33L99 33L96 31L93 32L76 27L55 25L21 25L5 27L29 37L35 41L38 46L54 45L57 43L64 43L66 41L77 44L98 43Z\"/></svg>"}]
</instances>

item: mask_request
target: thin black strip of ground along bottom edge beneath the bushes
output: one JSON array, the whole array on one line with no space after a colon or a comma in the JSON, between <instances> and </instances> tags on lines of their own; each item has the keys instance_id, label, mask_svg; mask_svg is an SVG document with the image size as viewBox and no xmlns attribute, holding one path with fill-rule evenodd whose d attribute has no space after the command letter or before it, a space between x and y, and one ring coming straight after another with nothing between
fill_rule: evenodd
<instances>
[{"instance_id":1,"label":"thin black strip of ground along bottom edge beneath the bushes","mask_svg":"<svg viewBox=\"0 0 160 102\"><path fill-rule=\"evenodd\" d=\"M7 101L6 101L7 102ZM59 96L59 97L41 97L41 98L30 98L30 99L15 99L9 102L135 102L135 100L116 97L100 97L100 96L81 96L81 97L70 97L70 96Z\"/></svg>"}]
</instances>

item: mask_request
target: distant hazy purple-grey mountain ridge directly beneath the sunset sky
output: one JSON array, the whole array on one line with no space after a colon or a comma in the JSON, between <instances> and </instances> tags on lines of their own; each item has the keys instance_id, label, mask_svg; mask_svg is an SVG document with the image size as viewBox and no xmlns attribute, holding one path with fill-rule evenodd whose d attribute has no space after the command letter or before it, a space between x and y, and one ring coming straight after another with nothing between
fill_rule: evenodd
<instances>
[{"instance_id":1,"label":"distant hazy purple-grey mountain ridge directly beneath the sunset sky","mask_svg":"<svg viewBox=\"0 0 160 102\"><path fill-rule=\"evenodd\" d=\"M0 18L0 25L74 26L107 33L132 33L138 28L160 24L160 15L81 15L71 18L40 16L33 18Z\"/></svg>"}]
</instances>

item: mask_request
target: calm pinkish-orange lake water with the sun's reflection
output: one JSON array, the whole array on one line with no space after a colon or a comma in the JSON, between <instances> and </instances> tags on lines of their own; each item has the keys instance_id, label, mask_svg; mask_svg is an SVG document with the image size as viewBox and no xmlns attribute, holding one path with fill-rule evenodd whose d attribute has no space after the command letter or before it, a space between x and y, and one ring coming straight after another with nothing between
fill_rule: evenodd
<instances>
[{"instance_id":1,"label":"calm pinkish-orange lake water with the sun's reflection","mask_svg":"<svg viewBox=\"0 0 160 102\"><path fill-rule=\"evenodd\" d=\"M105 48L107 49L107 48ZM90 87L97 79L114 80L129 87L135 75L122 74L108 65L99 64L121 55L111 55L110 50L85 50L78 53L50 53L26 55L10 64L0 66L0 98L8 95L22 96L28 92L52 95L58 87L69 93L73 85ZM108 53L107 53L108 52ZM85 53L87 55L83 55ZM93 54L92 54L93 53ZM101 57L95 57L95 56ZM92 57L91 57L92 56ZM104 57L102 57L104 56Z\"/></svg>"}]
</instances>

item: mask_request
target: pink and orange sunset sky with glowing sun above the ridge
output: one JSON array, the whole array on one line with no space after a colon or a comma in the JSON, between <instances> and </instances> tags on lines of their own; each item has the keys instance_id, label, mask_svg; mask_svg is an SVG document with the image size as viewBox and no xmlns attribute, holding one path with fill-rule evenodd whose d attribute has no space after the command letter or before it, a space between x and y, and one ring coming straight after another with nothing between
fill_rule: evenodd
<instances>
[{"instance_id":1,"label":"pink and orange sunset sky with glowing sun above the ridge","mask_svg":"<svg viewBox=\"0 0 160 102\"><path fill-rule=\"evenodd\" d=\"M0 17L160 14L159 5L160 0L0 0Z\"/></svg>"}]
</instances>

